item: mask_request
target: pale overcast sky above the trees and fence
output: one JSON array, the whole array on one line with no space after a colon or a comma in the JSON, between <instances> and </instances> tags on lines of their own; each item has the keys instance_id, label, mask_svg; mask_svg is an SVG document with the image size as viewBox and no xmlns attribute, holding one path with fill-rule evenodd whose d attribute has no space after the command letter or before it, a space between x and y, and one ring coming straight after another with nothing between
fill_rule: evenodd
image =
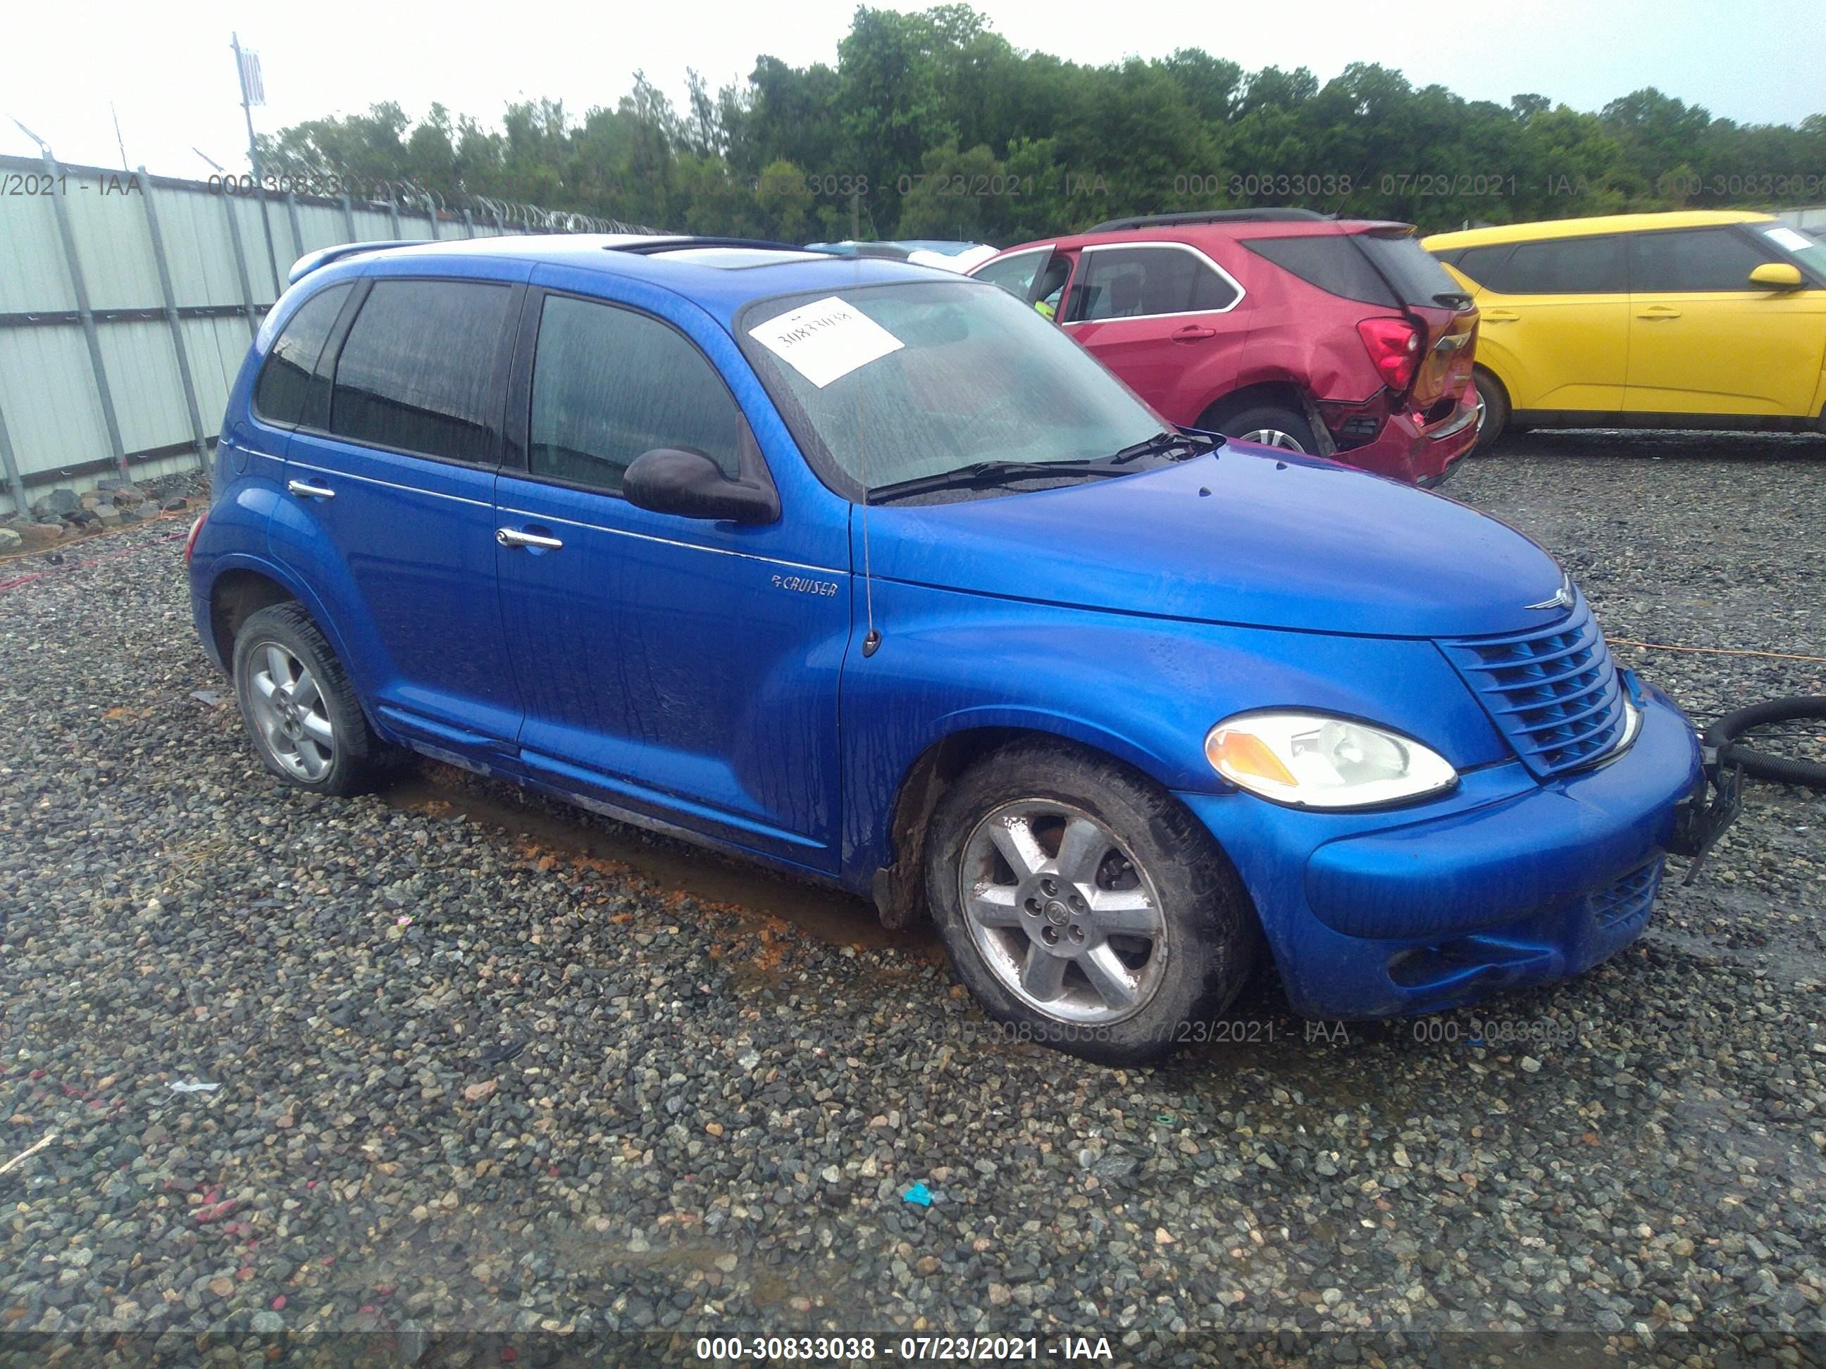
<instances>
[{"instance_id":1,"label":"pale overcast sky above the trees and fence","mask_svg":"<svg viewBox=\"0 0 1826 1369\"><path fill-rule=\"evenodd\" d=\"M1307 66L1320 80L1348 62L1380 62L1415 86L1437 82L1499 102L1534 91L1598 110L1656 86L1740 122L1799 122L1826 111L1826 5L1819 0L1768 9L1704 0L1510 0L1444 9L1370 0L1174 9L984 0L977 7L1017 47L1077 62L1203 47L1251 71ZM201 148L243 170L247 131L230 29L259 51L268 104L254 120L274 131L376 100L398 100L413 115L442 100L498 124L509 100L544 95L581 115L612 106L635 68L683 106L687 66L716 88L745 77L758 53L794 66L834 64L853 13L853 0L800 0L791 9L725 0L438 0L398 11L374 0L20 4L5 20L0 115L9 117L0 119L0 152L35 152L11 122L20 119L64 161L119 166L119 113L130 164L203 177L208 166L192 152Z\"/></svg>"}]
</instances>

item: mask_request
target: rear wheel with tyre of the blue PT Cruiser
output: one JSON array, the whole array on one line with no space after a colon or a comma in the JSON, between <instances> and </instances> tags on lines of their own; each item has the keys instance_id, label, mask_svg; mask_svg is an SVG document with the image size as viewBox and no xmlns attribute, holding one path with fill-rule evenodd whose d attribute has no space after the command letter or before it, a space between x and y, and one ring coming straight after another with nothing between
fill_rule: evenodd
<instances>
[{"instance_id":1,"label":"rear wheel with tyre of the blue PT Cruiser","mask_svg":"<svg viewBox=\"0 0 1826 1369\"><path fill-rule=\"evenodd\" d=\"M281 779L356 794L382 750L354 686L299 604L250 615L234 639L234 692L254 750Z\"/></svg>"}]
</instances>

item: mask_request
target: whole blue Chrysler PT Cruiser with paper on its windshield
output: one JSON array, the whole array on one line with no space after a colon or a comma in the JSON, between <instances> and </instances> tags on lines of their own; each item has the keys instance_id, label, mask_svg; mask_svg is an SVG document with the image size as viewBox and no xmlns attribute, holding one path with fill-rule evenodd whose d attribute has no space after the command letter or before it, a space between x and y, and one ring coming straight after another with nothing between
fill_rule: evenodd
<instances>
[{"instance_id":1,"label":"whole blue Chrysler PT Cruiser with paper on its windshield","mask_svg":"<svg viewBox=\"0 0 1826 1369\"><path fill-rule=\"evenodd\" d=\"M1264 951L1311 1017L1578 973L1691 845L1693 726L1541 548L1163 425L993 285L654 237L292 279L190 586L301 789L405 747L929 913L1108 1062Z\"/></svg>"}]
</instances>

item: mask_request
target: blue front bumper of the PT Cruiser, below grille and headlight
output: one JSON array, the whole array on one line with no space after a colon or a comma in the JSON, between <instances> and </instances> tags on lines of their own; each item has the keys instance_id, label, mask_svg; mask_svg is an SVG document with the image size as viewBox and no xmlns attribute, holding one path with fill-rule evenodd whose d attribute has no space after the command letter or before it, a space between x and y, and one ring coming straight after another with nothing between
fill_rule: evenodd
<instances>
[{"instance_id":1,"label":"blue front bumper of the PT Cruiser, below grille and headlight","mask_svg":"<svg viewBox=\"0 0 1826 1369\"><path fill-rule=\"evenodd\" d=\"M1506 763L1384 812L1181 798L1249 887L1293 1008L1366 1019L1439 1011L1616 955L1647 924L1676 807L1696 785L1698 737L1651 690L1627 752L1545 785Z\"/></svg>"}]
</instances>

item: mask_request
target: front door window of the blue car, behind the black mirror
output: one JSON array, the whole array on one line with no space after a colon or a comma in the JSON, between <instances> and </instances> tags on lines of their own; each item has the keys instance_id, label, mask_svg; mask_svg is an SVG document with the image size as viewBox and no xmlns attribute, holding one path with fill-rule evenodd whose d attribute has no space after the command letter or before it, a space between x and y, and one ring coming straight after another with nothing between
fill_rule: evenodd
<instances>
[{"instance_id":1,"label":"front door window of the blue car, behind the black mirror","mask_svg":"<svg viewBox=\"0 0 1826 1369\"><path fill-rule=\"evenodd\" d=\"M646 314L548 296L533 354L533 475L619 491L635 456L685 447L741 473L741 411L716 367Z\"/></svg>"}]
</instances>

